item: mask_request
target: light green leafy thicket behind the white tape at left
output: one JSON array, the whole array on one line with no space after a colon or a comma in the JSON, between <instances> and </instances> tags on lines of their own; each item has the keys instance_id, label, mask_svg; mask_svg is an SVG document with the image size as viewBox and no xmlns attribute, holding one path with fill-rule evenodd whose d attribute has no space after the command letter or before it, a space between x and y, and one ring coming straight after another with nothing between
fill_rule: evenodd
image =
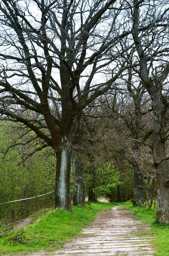
<instances>
[{"instance_id":1,"label":"light green leafy thicket behind the white tape at left","mask_svg":"<svg viewBox=\"0 0 169 256\"><path fill-rule=\"evenodd\" d=\"M55 157L51 149L35 152L24 163L23 154L28 155L36 145L18 145L32 136L20 136L18 127L11 122L0 122L0 203L30 198L53 191L55 187ZM8 148L13 144L15 147ZM38 141L36 142L38 143ZM6 152L6 154L4 154ZM54 205L54 193L42 198L0 205L0 218L9 221L24 218L31 211Z\"/></svg>"}]
</instances>

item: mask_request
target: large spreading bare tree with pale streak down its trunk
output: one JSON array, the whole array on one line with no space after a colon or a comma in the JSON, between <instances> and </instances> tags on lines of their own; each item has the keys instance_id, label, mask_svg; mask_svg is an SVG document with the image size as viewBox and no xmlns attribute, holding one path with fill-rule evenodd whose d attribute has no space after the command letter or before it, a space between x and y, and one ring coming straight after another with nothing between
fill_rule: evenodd
<instances>
[{"instance_id":1,"label":"large spreading bare tree with pale streak down its trunk","mask_svg":"<svg viewBox=\"0 0 169 256\"><path fill-rule=\"evenodd\" d=\"M0 3L0 113L23 123L44 141L44 147L54 149L56 207L71 210L76 117L110 90L124 71L118 51L113 51L113 46L120 47L119 38L129 33L123 31L122 21L116 23L122 10L116 0Z\"/></svg>"}]
</instances>

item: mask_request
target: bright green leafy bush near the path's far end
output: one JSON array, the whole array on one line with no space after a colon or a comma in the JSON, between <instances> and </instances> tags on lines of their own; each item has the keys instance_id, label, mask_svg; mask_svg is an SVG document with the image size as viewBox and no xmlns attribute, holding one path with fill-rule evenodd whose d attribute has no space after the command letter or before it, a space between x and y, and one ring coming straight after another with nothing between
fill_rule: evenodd
<instances>
[{"instance_id":1,"label":"bright green leafy bush near the path's far end","mask_svg":"<svg viewBox=\"0 0 169 256\"><path fill-rule=\"evenodd\" d=\"M121 184L120 173L111 163L105 163L97 168L95 175L96 183L93 192L97 197L112 194L112 189Z\"/></svg>"}]
</instances>

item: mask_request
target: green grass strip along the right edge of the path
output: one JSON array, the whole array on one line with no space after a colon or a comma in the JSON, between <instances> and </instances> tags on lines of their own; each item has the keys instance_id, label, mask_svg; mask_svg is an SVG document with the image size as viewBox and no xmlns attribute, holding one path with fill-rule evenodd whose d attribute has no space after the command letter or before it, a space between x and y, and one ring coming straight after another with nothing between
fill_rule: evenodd
<instances>
[{"instance_id":1,"label":"green grass strip along the right edge of the path","mask_svg":"<svg viewBox=\"0 0 169 256\"><path fill-rule=\"evenodd\" d=\"M132 210L136 218L140 218L151 227L150 235L155 237L153 244L157 250L155 256L169 256L169 226L155 221L156 209L133 207L130 202L124 203L123 207Z\"/></svg>"}]
</instances>

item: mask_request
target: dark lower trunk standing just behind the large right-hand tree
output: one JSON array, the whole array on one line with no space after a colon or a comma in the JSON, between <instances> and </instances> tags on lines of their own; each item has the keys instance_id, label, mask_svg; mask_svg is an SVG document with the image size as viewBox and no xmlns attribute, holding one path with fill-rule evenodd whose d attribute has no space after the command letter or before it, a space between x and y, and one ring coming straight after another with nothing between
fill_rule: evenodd
<instances>
[{"instance_id":1,"label":"dark lower trunk standing just behind the large right-hand tree","mask_svg":"<svg viewBox=\"0 0 169 256\"><path fill-rule=\"evenodd\" d=\"M143 177L142 174L134 171L134 198L135 198L135 205L137 206L143 206L144 205L144 199L143 199Z\"/></svg>"}]
</instances>

